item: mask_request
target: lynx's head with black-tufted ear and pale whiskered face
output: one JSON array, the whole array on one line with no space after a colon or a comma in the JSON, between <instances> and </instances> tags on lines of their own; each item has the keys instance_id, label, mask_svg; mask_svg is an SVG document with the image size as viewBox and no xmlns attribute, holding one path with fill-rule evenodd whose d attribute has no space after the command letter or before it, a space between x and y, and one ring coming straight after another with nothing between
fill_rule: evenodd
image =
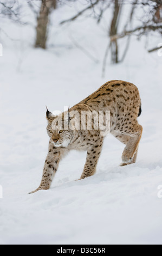
<instances>
[{"instance_id":1,"label":"lynx's head with black-tufted ear and pale whiskered face","mask_svg":"<svg viewBox=\"0 0 162 256\"><path fill-rule=\"evenodd\" d=\"M69 111L54 115L47 109L47 133L55 147L67 148L73 139L73 130L69 129Z\"/></svg>"}]
</instances>

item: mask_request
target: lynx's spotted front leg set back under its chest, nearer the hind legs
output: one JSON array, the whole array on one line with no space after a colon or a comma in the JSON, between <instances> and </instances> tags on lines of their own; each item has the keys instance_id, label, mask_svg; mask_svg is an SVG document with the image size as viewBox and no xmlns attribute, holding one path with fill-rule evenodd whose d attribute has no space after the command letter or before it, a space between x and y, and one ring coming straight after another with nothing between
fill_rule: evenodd
<instances>
[{"instance_id":1,"label":"lynx's spotted front leg set back under its chest, nearer the hind legs","mask_svg":"<svg viewBox=\"0 0 162 256\"><path fill-rule=\"evenodd\" d=\"M103 139L99 139L99 142L92 149L87 150L87 159L80 180L92 176L96 172L96 165L99 160L102 144Z\"/></svg>"}]
</instances>

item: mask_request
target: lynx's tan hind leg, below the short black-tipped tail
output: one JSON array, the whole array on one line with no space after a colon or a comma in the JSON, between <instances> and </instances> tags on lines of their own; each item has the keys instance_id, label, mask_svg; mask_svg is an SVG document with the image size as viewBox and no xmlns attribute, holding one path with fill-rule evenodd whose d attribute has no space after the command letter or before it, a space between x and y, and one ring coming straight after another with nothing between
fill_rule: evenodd
<instances>
[{"instance_id":1,"label":"lynx's tan hind leg, below the short black-tipped tail","mask_svg":"<svg viewBox=\"0 0 162 256\"><path fill-rule=\"evenodd\" d=\"M132 126L131 132L128 133L118 133L115 137L119 139L122 143L126 145L122 153L122 163L121 166L127 164L135 163L138 153L138 144L142 135L142 126L138 123Z\"/></svg>"}]
</instances>

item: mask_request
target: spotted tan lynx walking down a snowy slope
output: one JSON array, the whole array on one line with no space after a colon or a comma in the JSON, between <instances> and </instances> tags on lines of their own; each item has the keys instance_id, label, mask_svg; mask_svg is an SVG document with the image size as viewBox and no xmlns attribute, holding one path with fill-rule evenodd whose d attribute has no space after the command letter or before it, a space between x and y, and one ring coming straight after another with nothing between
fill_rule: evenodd
<instances>
[{"instance_id":1,"label":"spotted tan lynx walking down a snowy slope","mask_svg":"<svg viewBox=\"0 0 162 256\"><path fill-rule=\"evenodd\" d=\"M96 172L103 139L100 129L82 130L68 128L58 129L57 124L62 119L64 124L69 124L73 119L70 117L72 111L77 111L81 115L82 111L109 111L110 132L125 144L122 153L121 166L135 163L138 152L138 144L142 134L142 126L138 124L137 118L141 114L141 100L139 91L133 83L112 80L101 86L86 99L82 100L68 111L55 116L47 109L48 120L47 133L49 135L49 149L43 168L43 176L38 190L48 190L54 175L59 166L59 162L69 150L86 150L87 158L85 167L80 179L84 179ZM94 121L94 119L93 119Z\"/></svg>"}]
</instances>

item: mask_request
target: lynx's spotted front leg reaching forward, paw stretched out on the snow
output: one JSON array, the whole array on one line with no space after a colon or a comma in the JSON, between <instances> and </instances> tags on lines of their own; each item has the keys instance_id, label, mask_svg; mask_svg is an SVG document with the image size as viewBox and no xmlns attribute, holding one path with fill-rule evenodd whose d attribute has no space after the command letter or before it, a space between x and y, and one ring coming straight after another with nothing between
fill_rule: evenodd
<instances>
[{"instance_id":1,"label":"lynx's spotted front leg reaching forward, paw stretched out on the snow","mask_svg":"<svg viewBox=\"0 0 162 256\"><path fill-rule=\"evenodd\" d=\"M65 150L62 148L55 148L53 143L49 143L49 150L46 161L44 163L41 184L36 190L30 192L29 194L34 193L38 190L48 190L50 188L51 182L53 181L64 151Z\"/></svg>"}]
</instances>

